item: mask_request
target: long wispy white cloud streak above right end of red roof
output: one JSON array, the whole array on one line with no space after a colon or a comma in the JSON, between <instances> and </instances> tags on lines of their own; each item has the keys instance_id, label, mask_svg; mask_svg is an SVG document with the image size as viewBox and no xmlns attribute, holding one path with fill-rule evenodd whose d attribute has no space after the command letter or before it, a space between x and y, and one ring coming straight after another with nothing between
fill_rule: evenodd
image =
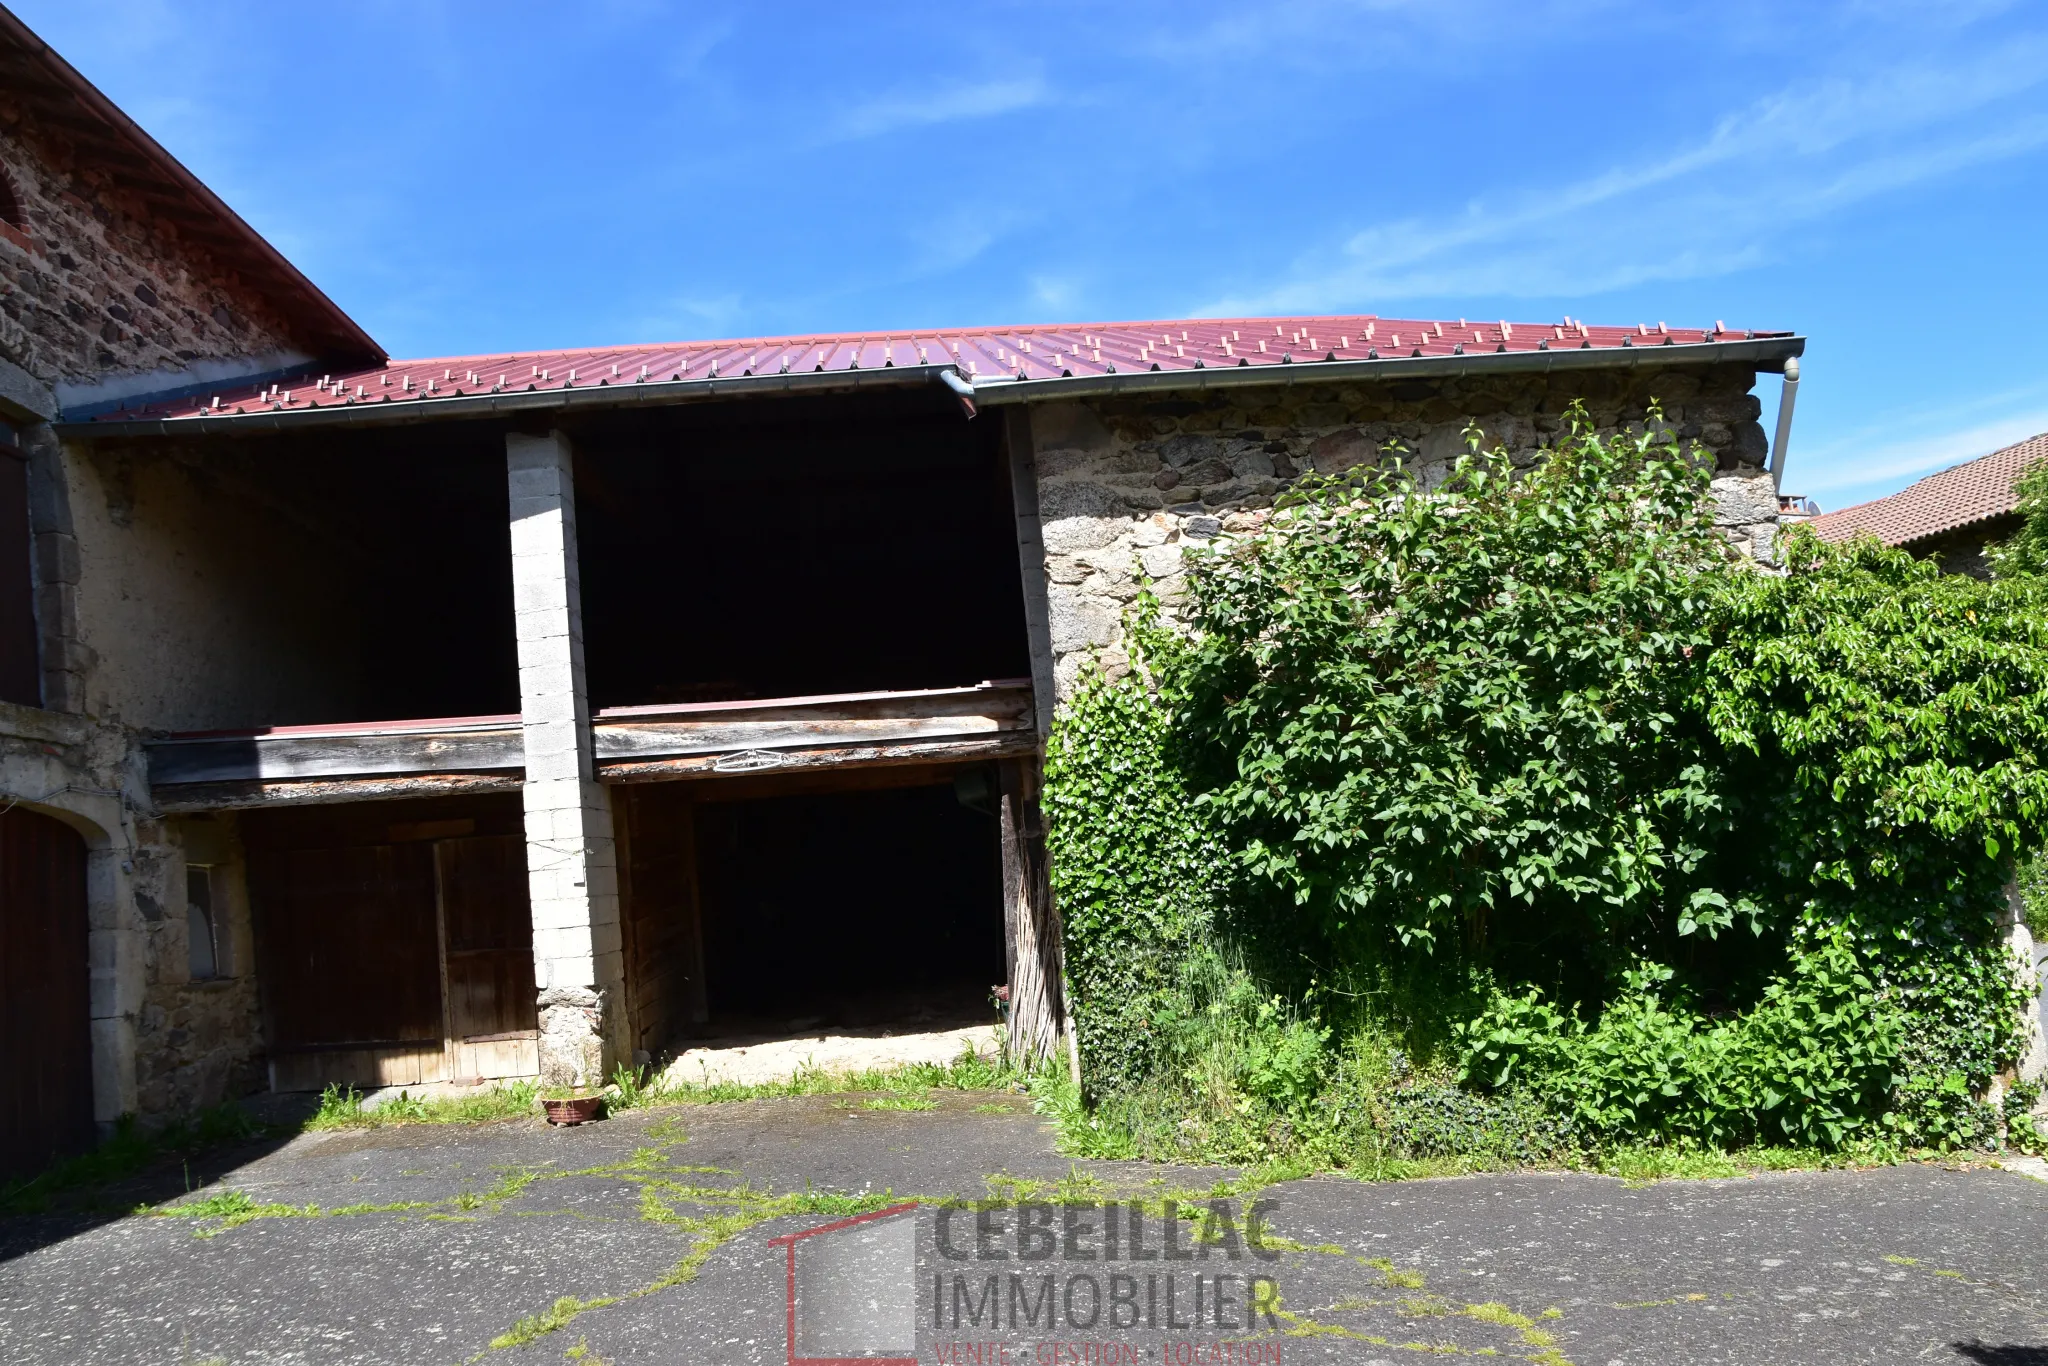
<instances>
[{"instance_id":1,"label":"long wispy white cloud streak above right end of red roof","mask_svg":"<svg viewBox=\"0 0 2048 1366\"><path fill-rule=\"evenodd\" d=\"M2048 147L2048 43L1780 90L1677 152L1511 203L1354 231L1290 279L1204 303L1210 315L1442 295L1554 297L1763 264L1786 229L1876 195ZM1985 131L1980 115L1999 121ZM2017 106L2015 106L2017 104Z\"/></svg>"}]
</instances>

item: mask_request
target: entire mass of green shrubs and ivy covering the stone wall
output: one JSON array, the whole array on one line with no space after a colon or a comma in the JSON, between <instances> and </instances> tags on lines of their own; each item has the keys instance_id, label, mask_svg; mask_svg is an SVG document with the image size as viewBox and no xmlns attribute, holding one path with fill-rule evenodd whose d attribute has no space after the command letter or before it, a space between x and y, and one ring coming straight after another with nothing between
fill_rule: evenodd
<instances>
[{"instance_id":1,"label":"entire mass of green shrubs and ivy covering the stone wall","mask_svg":"<svg viewBox=\"0 0 2048 1366\"><path fill-rule=\"evenodd\" d=\"M1309 479L1139 598L1047 766L1098 1147L1995 1139L2048 582L1806 532L1765 573L1708 508L1573 410L1532 469Z\"/></svg>"}]
</instances>

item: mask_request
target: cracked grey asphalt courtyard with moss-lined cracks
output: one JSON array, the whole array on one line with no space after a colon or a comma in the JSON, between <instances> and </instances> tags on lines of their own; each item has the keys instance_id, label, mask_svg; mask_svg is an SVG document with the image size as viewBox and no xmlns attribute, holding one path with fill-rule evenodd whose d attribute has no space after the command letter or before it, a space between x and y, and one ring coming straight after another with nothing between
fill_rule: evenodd
<instances>
[{"instance_id":1,"label":"cracked grey asphalt courtyard with moss-lined cracks","mask_svg":"<svg viewBox=\"0 0 2048 1366\"><path fill-rule=\"evenodd\" d=\"M788 1362L791 1247L772 1239L922 1198L856 1231L887 1241L891 1219L911 1223L901 1247L915 1247L915 1280L905 1262L883 1266L901 1268L924 1362L1430 1354L2048 1366L2048 1182L2015 1171L1907 1165L1638 1186L1585 1173L1311 1178L1243 1192L1219 1210L1235 1223L1204 1206L1206 1227L1176 1225L1188 1260L1157 1257L1157 1200L1176 1190L1192 1200L1233 1176L1069 1161L1022 1098L1004 1094L944 1094L922 1112L813 1096L563 1130L305 1135L94 1192L98 1212L0 1219L0 1362ZM965 1210L946 1214L938 1237L934 1200L1051 1198L1032 1182L1063 1182L1053 1194L1069 1200L1151 1198L1139 1235L1155 1257L1133 1255L1122 1210L1124 1241L1108 1255L1104 1212L1083 1204L1071 1214L1079 1237L1051 1260L1026 1257L1018 1223L1067 1221L1067 1208ZM1257 1227L1245 1229L1253 1198ZM195 1200L217 1212L178 1208ZM840 1237L797 1247L825 1257L817 1249ZM803 1266L825 1274L823 1260ZM1034 1305L1047 1276L1055 1305ZM1112 1276L1128 1278L1130 1327L1120 1303L1106 1315L1090 1305L1118 1292ZM989 1278L993 1309L979 1300ZM1174 1278L1180 1298L1165 1305ZM827 1303L825 1280L803 1284L805 1307ZM954 1327L963 1290L969 1317L991 1317ZM1204 1294L1200 1311L1190 1290ZM893 1292L862 1294L887 1319L881 1300ZM1249 1313L1251 1294L1264 1313ZM530 1319L563 1296L600 1305L569 1305L541 1331ZM1004 1298L1028 1321L1006 1319ZM819 1331L838 1329L803 1319L797 1356L815 1356ZM520 1341L494 1350L508 1333Z\"/></svg>"}]
</instances>

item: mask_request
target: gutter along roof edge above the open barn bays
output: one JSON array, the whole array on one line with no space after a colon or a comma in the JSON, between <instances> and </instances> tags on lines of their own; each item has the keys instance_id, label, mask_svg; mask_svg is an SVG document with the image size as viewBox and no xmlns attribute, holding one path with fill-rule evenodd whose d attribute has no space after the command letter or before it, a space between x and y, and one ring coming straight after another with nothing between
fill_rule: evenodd
<instances>
[{"instance_id":1,"label":"gutter along roof edge above the open barn bays","mask_svg":"<svg viewBox=\"0 0 2048 1366\"><path fill-rule=\"evenodd\" d=\"M952 365L901 365L879 371L793 371L788 375L729 375L719 379L668 379L598 383L588 389L516 389L463 397L408 397L324 408L289 408L219 418L139 418L129 422L59 422L66 440L100 436L248 436L295 432L301 428L395 426L440 418L510 418L535 412L575 412L584 408L651 408L705 399L752 399L797 393L844 393L854 389L915 389L944 385L956 377ZM987 389L975 389L987 393Z\"/></svg>"}]
</instances>

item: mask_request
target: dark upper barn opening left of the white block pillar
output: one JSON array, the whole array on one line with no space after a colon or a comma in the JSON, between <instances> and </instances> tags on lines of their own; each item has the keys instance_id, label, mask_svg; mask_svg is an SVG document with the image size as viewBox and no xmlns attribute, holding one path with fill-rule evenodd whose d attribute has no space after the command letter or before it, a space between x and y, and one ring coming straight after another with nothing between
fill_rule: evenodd
<instances>
[{"instance_id":1,"label":"dark upper barn opening left of the white block pillar","mask_svg":"<svg viewBox=\"0 0 2048 1366\"><path fill-rule=\"evenodd\" d=\"M86 459L117 510L100 616L162 668L164 729L516 713L504 434L492 424L154 440ZM150 651L160 651L152 655Z\"/></svg>"}]
</instances>

